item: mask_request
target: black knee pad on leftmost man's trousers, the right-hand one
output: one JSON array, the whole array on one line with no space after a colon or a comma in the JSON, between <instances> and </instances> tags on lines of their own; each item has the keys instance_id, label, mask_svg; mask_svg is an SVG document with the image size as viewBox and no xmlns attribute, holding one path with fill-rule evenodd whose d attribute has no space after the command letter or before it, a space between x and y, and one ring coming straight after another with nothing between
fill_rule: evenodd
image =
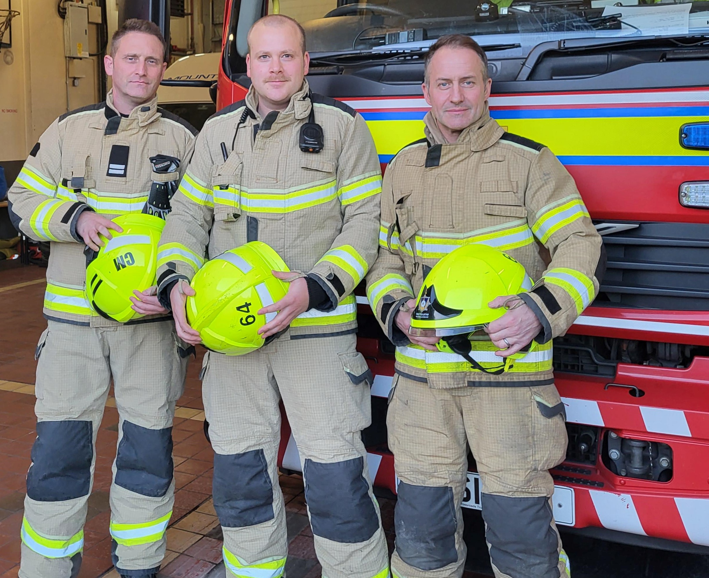
<instances>
[{"instance_id":1,"label":"black knee pad on leftmost man's trousers, the right-hand one","mask_svg":"<svg viewBox=\"0 0 709 578\"><path fill-rule=\"evenodd\" d=\"M172 428L147 429L123 421L116 453L116 485L151 498L167 494L172 482Z\"/></svg>"}]
</instances>

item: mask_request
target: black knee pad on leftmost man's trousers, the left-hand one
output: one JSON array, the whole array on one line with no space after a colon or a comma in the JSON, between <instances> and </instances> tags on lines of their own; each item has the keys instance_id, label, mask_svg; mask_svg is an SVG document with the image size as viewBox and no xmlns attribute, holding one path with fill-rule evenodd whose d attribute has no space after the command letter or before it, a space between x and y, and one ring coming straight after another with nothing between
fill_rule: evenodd
<instances>
[{"instance_id":1,"label":"black knee pad on leftmost man's trousers, the left-hand one","mask_svg":"<svg viewBox=\"0 0 709 578\"><path fill-rule=\"evenodd\" d=\"M30 499L62 502L89 494L93 431L91 421L37 422L32 465L27 472Z\"/></svg>"}]
</instances>

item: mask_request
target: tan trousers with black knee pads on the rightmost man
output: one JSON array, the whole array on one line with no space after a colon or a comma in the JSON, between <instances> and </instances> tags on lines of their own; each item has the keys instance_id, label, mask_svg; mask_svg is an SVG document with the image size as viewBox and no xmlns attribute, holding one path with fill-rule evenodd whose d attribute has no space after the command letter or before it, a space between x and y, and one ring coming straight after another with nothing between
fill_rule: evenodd
<instances>
[{"instance_id":1,"label":"tan trousers with black knee pads on the rightmost man","mask_svg":"<svg viewBox=\"0 0 709 578\"><path fill-rule=\"evenodd\" d=\"M462 382L461 385L464 385ZM567 578L549 500L550 467L566 453L554 385L435 390L394 377L387 428L399 478L398 578L460 578L467 444L482 483L482 514L496 578Z\"/></svg>"}]
</instances>

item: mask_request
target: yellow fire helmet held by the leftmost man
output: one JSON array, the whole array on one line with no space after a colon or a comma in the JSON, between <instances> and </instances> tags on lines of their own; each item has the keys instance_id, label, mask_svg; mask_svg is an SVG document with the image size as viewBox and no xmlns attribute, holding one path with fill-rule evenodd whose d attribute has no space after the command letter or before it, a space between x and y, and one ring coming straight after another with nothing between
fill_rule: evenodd
<instances>
[{"instance_id":1,"label":"yellow fire helmet held by the leftmost man","mask_svg":"<svg viewBox=\"0 0 709 578\"><path fill-rule=\"evenodd\" d=\"M133 290L155 285L157 242L165 222L160 217L130 213L113 219L123 232L101 236L99 251L86 251L86 299L94 311L121 323L143 317L131 309Z\"/></svg>"}]
</instances>

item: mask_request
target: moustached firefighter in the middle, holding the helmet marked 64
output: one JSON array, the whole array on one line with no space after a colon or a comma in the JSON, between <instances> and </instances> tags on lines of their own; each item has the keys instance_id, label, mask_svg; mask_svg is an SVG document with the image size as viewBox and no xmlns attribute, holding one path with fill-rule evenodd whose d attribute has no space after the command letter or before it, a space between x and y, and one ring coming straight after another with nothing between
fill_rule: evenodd
<instances>
[{"instance_id":1,"label":"moustached firefighter in the middle, holding the helmet marked 64","mask_svg":"<svg viewBox=\"0 0 709 578\"><path fill-rule=\"evenodd\" d=\"M158 291L185 341L189 280L203 263L262 241L290 273L286 296L251 310L279 335L257 351L209 351L203 399L214 448L214 507L230 575L277 578L286 562L278 484L282 399L298 446L323 574L386 578L389 560L360 432L371 421L372 374L355 350L352 290L377 253L381 170L366 123L311 93L302 28L266 16L248 36L245 100L206 121L160 239ZM169 295L169 297L168 297ZM169 301L168 301L169 299ZM249 315L252 317L249 317Z\"/></svg>"}]
</instances>

